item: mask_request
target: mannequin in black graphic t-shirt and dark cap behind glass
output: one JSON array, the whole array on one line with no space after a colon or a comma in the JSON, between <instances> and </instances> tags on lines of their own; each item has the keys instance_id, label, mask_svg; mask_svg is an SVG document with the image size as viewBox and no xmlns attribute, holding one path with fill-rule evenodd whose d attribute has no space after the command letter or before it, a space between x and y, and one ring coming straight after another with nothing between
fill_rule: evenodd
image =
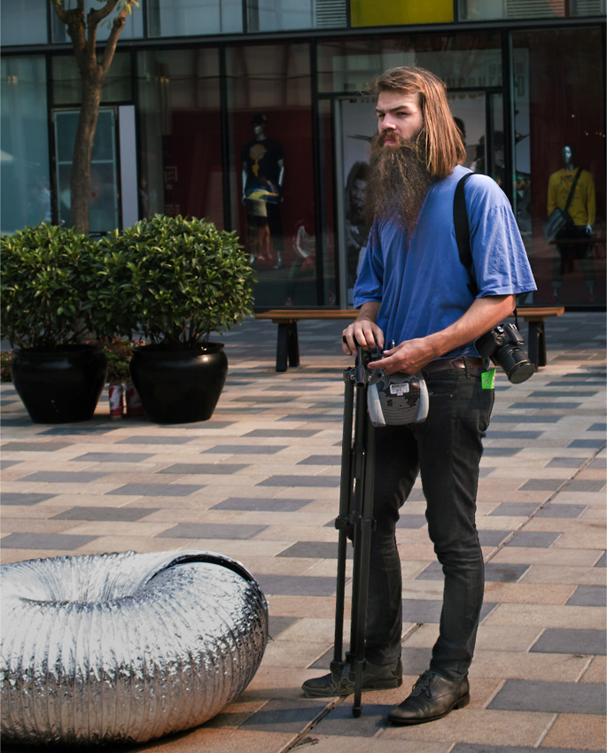
<instances>
[{"instance_id":1,"label":"mannequin in black graphic t-shirt and dark cap behind glass","mask_svg":"<svg viewBox=\"0 0 607 753\"><path fill-rule=\"evenodd\" d=\"M251 252L251 260L269 266L273 260L271 249L276 252L274 268L283 265L283 228L279 204L282 199L284 180L283 150L280 144L265 133L265 115L253 116L251 126L254 138L242 148L243 202L253 229L257 249Z\"/></svg>"}]
</instances>

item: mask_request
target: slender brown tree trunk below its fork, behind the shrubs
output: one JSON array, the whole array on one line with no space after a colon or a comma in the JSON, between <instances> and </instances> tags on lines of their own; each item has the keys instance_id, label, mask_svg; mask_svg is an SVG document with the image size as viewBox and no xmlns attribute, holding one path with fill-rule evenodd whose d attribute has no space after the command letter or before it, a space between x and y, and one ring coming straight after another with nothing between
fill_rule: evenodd
<instances>
[{"instance_id":1,"label":"slender brown tree trunk below its fork, behind the shrubs","mask_svg":"<svg viewBox=\"0 0 607 753\"><path fill-rule=\"evenodd\" d=\"M70 176L70 219L79 233L89 233L90 160L99 117L103 78L97 72L82 72L82 105Z\"/></svg>"}]
</instances>

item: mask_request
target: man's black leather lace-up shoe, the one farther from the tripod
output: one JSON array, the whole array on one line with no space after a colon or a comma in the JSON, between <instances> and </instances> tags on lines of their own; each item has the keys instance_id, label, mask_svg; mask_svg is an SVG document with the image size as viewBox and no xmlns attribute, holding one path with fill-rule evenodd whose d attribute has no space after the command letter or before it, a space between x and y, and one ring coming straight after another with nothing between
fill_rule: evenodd
<instances>
[{"instance_id":1,"label":"man's black leather lace-up shoe, the one farther from the tripod","mask_svg":"<svg viewBox=\"0 0 607 753\"><path fill-rule=\"evenodd\" d=\"M424 671L409 698L390 712L388 719L395 725L421 725L433 722L470 703L468 678L450 682L432 670Z\"/></svg>"}]
</instances>

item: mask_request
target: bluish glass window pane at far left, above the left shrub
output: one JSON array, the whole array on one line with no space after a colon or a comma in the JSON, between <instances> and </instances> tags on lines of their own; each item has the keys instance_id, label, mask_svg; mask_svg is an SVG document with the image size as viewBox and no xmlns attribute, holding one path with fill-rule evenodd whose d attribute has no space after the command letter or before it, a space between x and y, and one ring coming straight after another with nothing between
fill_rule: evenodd
<instances>
[{"instance_id":1,"label":"bluish glass window pane at far left, above the left shrub","mask_svg":"<svg viewBox=\"0 0 607 753\"><path fill-rule=\"evenodd\" d=\"M44 58L2 59L2 233L51 221Z\"/></svg>"}]
</instances>

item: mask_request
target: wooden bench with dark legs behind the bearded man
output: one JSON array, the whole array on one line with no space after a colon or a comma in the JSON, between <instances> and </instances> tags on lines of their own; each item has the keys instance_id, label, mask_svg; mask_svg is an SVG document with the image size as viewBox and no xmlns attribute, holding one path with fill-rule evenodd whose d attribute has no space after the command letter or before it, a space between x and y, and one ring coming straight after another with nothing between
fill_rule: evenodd
<instances>
[{"instance_id":1,"label":"wooden bench with dark legs behind the bearded man","mask_svg":"<svg viewBox=\"0 0 607 753\"><path fill-rule=\"evenodd\" d=\"M255 314L257 319L269 319L278 325L276 342L276 371L286 371L289 366L300 365L300 341L297 322L302 319L355 319L355 308L272 308ZM550 316L564 314L563 306L525 306L518 316L529 324L527 340L529 360L536 367L546 366L546 332L544 322Z\"/></svg>"}]
</instances>

